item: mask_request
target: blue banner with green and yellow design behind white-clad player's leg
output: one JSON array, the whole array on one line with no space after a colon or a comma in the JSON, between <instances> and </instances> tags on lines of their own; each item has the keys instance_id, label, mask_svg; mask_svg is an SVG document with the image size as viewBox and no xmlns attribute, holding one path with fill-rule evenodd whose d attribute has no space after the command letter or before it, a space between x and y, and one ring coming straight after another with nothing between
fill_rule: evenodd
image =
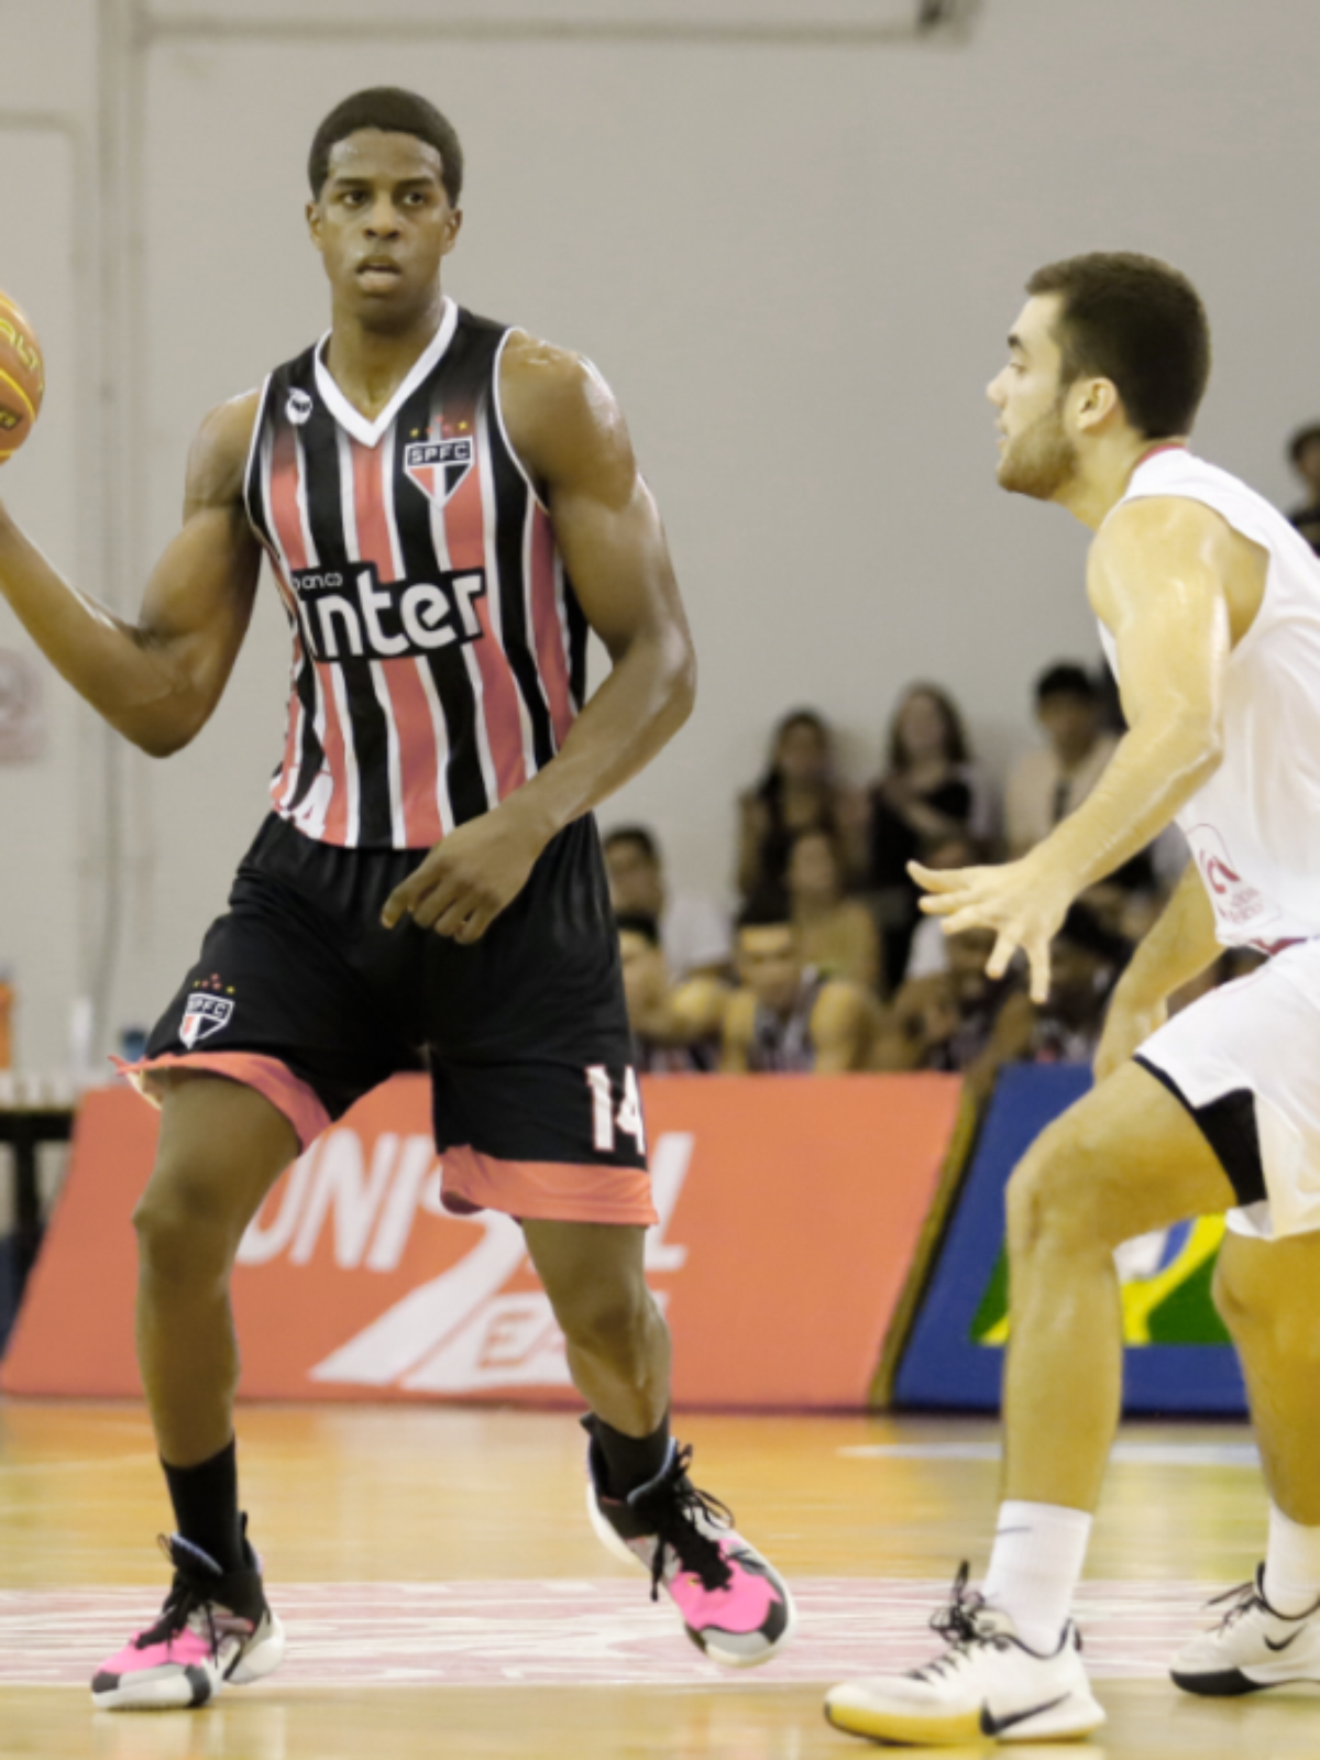
<instances>
[{"instance_id":1,"label":"blue banner with green and yellow design behind white-clad player's leg","mask_svg":"<svg viewBox=\"0 0 1320 1760\"><path fill-rule=\"evenodd\" d=\"M896 1406L996 1412L1008 1332L1003 1188L1037 1135L1091 1086L1077 1065L1000 1075L894 1383ZM1223 1218L1128 1243L1123 1278L1128 1413L1246 1412L1237 1357L1211 1301Z\"/></svg>"}]
</instances>

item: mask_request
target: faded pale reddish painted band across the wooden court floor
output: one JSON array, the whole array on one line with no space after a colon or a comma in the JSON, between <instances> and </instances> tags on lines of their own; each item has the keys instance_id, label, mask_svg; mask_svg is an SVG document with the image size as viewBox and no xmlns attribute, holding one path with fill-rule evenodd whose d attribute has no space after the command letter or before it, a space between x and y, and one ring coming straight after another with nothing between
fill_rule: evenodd
<instances>
[{"instance_id":1,"label":"faded pale reddish painted band across the wooden court floor","mask_svg":"<svg viewBox=\"0 0 1320 1760\"><path fill-rule=\"evenodd\" d=\"M1095 1679L1163 1679L1169 1658L1213 1624L1221 1584L1086 1582L1077 1617ZM929 1661L931 1612L947 1579L803 1577L799 1633L766 1670L706 1661L674 1610L627 1579L327 1582L271 1586L289 1660L248 1691L282 1697L331 1686L773 1686L824 1684ZM148 1624L144 1588L0 1591L0 1690L86 1690L99 1661Z\"/></svg>"}]
</instances>

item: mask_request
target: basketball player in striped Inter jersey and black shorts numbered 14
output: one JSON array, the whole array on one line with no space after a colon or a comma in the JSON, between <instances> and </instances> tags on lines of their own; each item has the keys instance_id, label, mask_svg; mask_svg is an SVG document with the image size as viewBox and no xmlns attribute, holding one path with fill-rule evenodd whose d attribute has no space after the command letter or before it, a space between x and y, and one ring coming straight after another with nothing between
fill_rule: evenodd
<instances>
[{"instance_id":1,"label":"basketball player in striped Inter jersey and black shorts numbered 14","mask_svg":"<svg viewBox=\"0 0 1320 1760\"><path fill-rule=\"evenodd\" d=\"M271 815L132 1072L162 1107L137 1339L178 1533L158 1621L93 1681L109 1709L199 1705L282 1658L239 1514L229 1274L280 1172L400 1070L429 1068L445 1204L523 1223L590 1406L600 1536L720 1661L792 1630L787 1588L669 1434L591 820L686 718L692 642L609 389L442 292L461 178L452 127L412 93L326 118L308 222L331 329L202 424L137 623L0 519L5 597L146 752L215 709L262 554L294 644ZM584 702L588 628L612 671Z\"/></svg>"}]
</instances>

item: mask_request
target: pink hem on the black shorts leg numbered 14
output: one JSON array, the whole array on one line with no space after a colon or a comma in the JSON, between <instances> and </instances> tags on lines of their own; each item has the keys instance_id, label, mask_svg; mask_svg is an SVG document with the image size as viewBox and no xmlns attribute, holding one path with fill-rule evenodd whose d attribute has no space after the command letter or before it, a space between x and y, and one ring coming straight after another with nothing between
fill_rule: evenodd
<instances>
[{"instance_id":1,"label":"pink hem on the black shorts leg numbered 14","mask_svg":"<svg viewBox=\"0 0 1320 1760\"><path fill-rule=\"evenodd\" d=\"M648 1228L658 1221L651 1176L641 1167L572 1162L500 1162L468 1146L440 1156L442 1202L456 1216L505 1211L519 1221L609 1221Z\"/></svg>"}]
</instances>

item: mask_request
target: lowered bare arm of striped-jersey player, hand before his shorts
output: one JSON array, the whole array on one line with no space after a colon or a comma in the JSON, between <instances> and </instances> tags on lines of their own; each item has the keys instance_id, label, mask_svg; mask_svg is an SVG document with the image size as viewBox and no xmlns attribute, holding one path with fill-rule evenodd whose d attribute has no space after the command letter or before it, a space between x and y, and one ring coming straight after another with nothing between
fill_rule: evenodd
<instances>
[{"instance_id":1,"label":"lowered bare arm of striped-jersey player, hand before his shorts","mask_svg":"<svg viewBox=\"0 0 1320 1760\"><path fill-rule=\"evenodd\" d=\"M612 392L593 366L516 333L502 363L509 440L549 507L583 612L612 667L558 755L502 806L459 825L389 899L475 942L537 855L623 787L692 713L695 655L660 514Z\"/></svg>"}]
</instances>

